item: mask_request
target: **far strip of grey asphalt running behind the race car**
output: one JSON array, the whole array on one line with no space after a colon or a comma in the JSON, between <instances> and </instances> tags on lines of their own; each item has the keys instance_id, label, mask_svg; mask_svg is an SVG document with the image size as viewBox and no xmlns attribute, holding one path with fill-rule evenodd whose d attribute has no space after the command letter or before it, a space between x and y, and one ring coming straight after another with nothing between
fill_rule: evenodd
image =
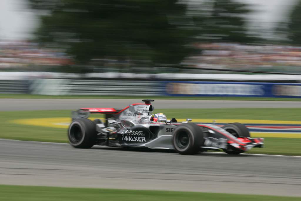
<instances>
[{"instance_id":1,"label":"far strip of grey asphalt running behind the race car","mask_svg":"<svg viewBox=\"0 0 301 201\"><path fill-rule=\"evenodd\" d=\"M71 110L81 107L125 108L141 99L0 99L0 111ZM157 109L167 108L300 108L298 101L155 100Z\"/></svg>"}]
</instances>

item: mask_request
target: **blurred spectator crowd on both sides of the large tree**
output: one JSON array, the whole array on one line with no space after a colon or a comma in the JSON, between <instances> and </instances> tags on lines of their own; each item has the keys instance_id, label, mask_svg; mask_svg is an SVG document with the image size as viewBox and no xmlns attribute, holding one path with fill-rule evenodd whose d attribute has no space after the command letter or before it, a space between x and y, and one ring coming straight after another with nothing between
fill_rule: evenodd
<instances>
[{"instance_id":1,"label":"blurred spectator crowd on both sides of the large tree","mask_svg":"<svg viewBox=\"0 0 301 201\"><path fill-rule=\"evenodd\" d=\"M197 43L195 47L202 51L200 55L185 59L183 64L186 66L245 71L301 72L301 47L297 46ZM132 71L130 68L132 65L129 63L104 59L101 66L95 68L95 72L110 72L116 68L122 68L123 72ZM59 71L60 66L70 64L73 64L72 59L62 49L42 48L34 42L0 42L1 71Z\"/></svg>"}]
</instances>

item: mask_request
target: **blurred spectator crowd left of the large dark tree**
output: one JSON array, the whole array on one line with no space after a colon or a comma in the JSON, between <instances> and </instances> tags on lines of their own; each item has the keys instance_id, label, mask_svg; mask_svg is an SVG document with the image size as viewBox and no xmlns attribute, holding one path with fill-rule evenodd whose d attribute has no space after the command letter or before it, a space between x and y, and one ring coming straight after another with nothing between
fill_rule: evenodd
<instances>
[{"instance_id":1,"label":"blurred spectator crowd left of the large dark tree","mask_svg":"<svg viewBox=\"0 0 301 201\"><path fill-rule=\"evenodd\" d=\"M0 41L1 71L48 71L71 63L61 49L42 48L34 42Z\"/></svg>"}]
</instances>

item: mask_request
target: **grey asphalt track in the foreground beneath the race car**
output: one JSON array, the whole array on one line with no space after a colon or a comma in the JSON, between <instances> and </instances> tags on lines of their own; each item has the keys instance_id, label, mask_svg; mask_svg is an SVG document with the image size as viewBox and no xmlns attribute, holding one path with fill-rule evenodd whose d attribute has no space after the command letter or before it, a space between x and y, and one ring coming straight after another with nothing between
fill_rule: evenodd
<instances>
[{"instance_id":1,"label":"grey asphalt track in the foreground beneath the race car","mask_svg":"<svg viewBox=\"0 0 301 201\"><path fill-rule=\"evenodd\" d=\"M0 140L0 184L301 196L301 158Z\"/></svg>"}]
</instances>

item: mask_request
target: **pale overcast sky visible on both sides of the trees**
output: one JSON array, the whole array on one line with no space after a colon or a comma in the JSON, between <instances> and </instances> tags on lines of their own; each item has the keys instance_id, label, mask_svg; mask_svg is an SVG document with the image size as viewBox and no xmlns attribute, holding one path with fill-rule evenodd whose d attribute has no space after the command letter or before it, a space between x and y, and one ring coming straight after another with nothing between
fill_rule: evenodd
<instances>
[{"instance_id":1,"label":"pale overcast sky visible on both sides of the trees","mask_svg":"<svg viewBox=\"0 0 301 201\"><path fill-rule=\"evenodd\" d=\"M190 0L191 2L198 0ZM202 2L203 0L199 0ZM287 20L289 9L299 0L235 0L251 4L256 12L247 17L250 27L272 29L275 22ZM32 36L39 19L26 0L0 0L0 40L22 40Z\"/></svg>"}]
</instances>

